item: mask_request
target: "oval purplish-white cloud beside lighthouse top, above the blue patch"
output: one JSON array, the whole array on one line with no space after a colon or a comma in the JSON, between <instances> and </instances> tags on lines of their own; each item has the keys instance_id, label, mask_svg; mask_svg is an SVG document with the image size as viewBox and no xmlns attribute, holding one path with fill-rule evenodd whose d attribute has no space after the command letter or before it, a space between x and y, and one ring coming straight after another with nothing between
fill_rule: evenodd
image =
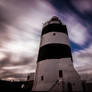
<instances>
[{"instance_id":1,"label":"oval purplish-white cloud beside lighthouse top, above the blue patch","mask_svg":"<svg viewBox=\"0 0 92 92\"><path fill-rule=\"evenodd\" d=\"M80 46L85 45L89 37L88 27L84 26L80 17L72 11L59 13L59 17L62 23L67 27L69 39Z\"/></svg>"}]
</instances>

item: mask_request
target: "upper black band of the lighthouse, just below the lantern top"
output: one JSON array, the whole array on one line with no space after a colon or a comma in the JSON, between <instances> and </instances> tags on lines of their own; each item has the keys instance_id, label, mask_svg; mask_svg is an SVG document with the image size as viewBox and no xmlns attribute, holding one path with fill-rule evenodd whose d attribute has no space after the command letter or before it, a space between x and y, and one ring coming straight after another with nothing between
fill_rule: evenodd
<instances>
[{"instance_id":1,"label":"upper black band of the lighthouse, just below the lantern top","mask_svg":"<svg viewBox=\"0 0 92 92\"><path fill-rule=\"evenodd\" d=\"M62 32L68 35L65 25L62 24L49 24L43 28L42 35L49 32Z\"/></svg>"}]
</instances>

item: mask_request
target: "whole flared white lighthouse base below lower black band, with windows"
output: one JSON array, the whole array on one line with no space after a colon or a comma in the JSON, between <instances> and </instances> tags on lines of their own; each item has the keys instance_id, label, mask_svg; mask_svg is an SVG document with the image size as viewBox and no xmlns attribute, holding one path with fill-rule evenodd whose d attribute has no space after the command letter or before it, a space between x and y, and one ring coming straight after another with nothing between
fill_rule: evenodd
<instances>
[{"instance_id":1,"label":"whole flared white lighthouse base below lower black band, with windows","mask_svg":"<svg viewBox=\"0 0 92 92\"><path fill-rule=\"evenodd\" d=\"M60 70L62 70L61 75L59 74ZM43 80L41 79L42 75ZM50 59L39 62L33 91L82 92L82 82L73 67L71 58Z\"/></svg>"}]
</instances>

